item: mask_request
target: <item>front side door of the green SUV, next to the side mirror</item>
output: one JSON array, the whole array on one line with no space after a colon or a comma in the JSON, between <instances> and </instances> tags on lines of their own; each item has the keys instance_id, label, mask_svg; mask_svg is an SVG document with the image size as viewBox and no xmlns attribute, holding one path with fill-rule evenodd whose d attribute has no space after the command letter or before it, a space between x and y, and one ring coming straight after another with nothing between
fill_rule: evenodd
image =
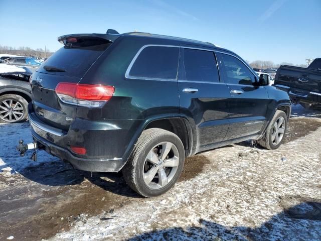
<instances>
[{"instance_id":1,"label":"front side door of the green SUV, next to the side mirror","mask_svg":"<svg viewBox=\"0 0 321 241\"><path fill-rule=\"evenodd\" d=\"M264 86L240 58L220 53L220 74L231 93L230 127L224 140L258 134L266 121L269 97Z\"/></svg>"}]
</instances>

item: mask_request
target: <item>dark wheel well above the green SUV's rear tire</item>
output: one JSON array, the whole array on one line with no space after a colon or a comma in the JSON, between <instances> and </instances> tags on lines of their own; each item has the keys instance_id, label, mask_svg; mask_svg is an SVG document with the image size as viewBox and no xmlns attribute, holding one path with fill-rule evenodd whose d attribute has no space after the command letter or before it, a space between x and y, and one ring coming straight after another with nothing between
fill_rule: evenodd
<instances>
[{"instance_id":1,"label":"dark wheel well above the green SUV's rear tire","mask_svg":"<svg viewBox=\"0 0 321 241\"><path fill-rule=\"evenodd\" d=\"M185 149L185 156L189 156L191 153L191 145L189 142L189 133L187 129L187 125L182 118L169 118L169 119L157 119L156 121L150 122L144 130L150 128L160 128L167 130L169 132L174 133L177 135L184 146Z\"/></svg>"}]
</instances>

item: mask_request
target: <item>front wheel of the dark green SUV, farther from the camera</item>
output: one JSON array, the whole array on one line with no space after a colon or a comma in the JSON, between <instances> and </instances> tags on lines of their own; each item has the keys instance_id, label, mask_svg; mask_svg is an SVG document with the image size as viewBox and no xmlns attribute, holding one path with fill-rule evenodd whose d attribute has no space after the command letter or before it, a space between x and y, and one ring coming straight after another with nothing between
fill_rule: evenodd
<instances>
[{"instance_id":1,"label":"front wheel of the dark green SUV, farther from the camera","mask_svg":"<svg viewBox=\"0 0 321 241\"><path fill-rule=\"evenodd\" d=\"M284 111L276 110L272 121L258 144L268 150L277 149L283 142L287 128L287 116Z\"/></svg>"}]
</instances>

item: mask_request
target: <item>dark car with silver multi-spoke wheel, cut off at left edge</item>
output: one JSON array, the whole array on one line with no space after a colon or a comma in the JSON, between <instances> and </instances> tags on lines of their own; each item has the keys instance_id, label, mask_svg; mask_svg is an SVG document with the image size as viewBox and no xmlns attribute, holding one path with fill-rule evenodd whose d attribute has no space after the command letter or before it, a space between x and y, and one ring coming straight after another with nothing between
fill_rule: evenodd
<instances>
[{"instance_id":1,"label":"dark car with silver multi-spoke wheel, cut off at left edge","mask_svg":"<svg viewBox=\"0 0 321 241\"><path fill-rule=\"evenodd\" d=\"M0 122L15 123L26 120L28 103L31 102L29 77L26 73L0 74Z\"/></svg>"}]
</instances>

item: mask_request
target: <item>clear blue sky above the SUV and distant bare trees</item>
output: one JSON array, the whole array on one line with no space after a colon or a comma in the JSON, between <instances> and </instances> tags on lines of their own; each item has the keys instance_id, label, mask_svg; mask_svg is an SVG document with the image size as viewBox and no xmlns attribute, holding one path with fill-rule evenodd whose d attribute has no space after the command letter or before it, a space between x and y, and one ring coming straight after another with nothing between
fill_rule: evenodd
<instances>
[{"instance_id":1,"label":"clear blue sky above the SUV and distant bare trees","mask_svg":"<svg viewBox=\"0 0 321 241\"><path fill-rule=\"evenodd\" d=\"M321 57L321 0L0 0L0 45L58 50L72 33L165 34L212 42L248 61Z\"/></svg>"}]
</instances>

